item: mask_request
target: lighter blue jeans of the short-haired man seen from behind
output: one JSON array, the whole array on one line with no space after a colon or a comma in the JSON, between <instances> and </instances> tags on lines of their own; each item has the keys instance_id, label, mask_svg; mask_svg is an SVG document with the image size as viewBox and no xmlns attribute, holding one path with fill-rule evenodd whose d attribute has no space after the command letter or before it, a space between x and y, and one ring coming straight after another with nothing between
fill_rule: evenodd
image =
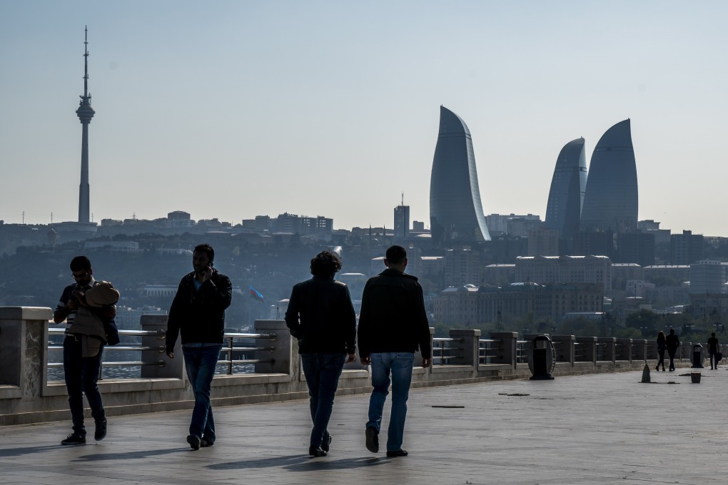
<instances>
[{"instance_id":1,"label":"lighter blue jeans of the short-haired man seen from behind","mask_svg":"<svg viewBox=\"0 0 728 485\"><path fill-rule=\"evenodd\" d=\"M387 451L402 449L407 417L407 398L412 382L414 353L382 352L371 354L371 385L374 390L369 398L369 421L367 428L379 433L384 401L389 394L389 376L392 376L392 415L389 417L387 432Z\"/></svg>"}]
</instances>

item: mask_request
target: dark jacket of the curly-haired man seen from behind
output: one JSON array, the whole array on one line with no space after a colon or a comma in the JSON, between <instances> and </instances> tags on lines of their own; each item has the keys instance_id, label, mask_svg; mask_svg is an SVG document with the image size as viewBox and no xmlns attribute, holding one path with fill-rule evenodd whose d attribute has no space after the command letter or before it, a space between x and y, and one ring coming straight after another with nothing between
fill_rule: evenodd
<instances>
[{"instance_id":1,"label":"dark jacket of the curly-haired man seen from behind","mask_svg":"<svg viewBox=\"0 0 728 485\"><path fill-rule=\"evenodd\" d=\"M314 276L293 286L285 324L298 339L298 353L354 353L357 317L341 281Z\"/></svg>"}]
</instances>

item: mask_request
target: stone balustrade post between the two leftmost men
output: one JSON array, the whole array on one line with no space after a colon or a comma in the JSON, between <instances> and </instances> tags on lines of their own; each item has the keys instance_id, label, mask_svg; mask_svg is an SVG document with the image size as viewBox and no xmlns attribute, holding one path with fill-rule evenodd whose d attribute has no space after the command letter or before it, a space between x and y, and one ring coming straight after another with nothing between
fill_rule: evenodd
<instances>
[{"instance_id":1,"label":"stone balustrade post between the two leftmost men","mask_svg":"<svg viewBox=\"0 0 728 485\"><path fill-rule=\"evenodd\" d=\"M167 332L166 315L142 315L139 319L141 329L145 332L157 332L157 335L143 335L141 337L142 347L152 347L153 350L142 350L141 360L143 362L162 361L164 366L141 366L141 377L143 379L183 379L186 377L184 371L184 357L182 355L182 339L177 338L175 342L175 358L167 357L165 353L165 334Z\"/></svg>"}]
</instances>

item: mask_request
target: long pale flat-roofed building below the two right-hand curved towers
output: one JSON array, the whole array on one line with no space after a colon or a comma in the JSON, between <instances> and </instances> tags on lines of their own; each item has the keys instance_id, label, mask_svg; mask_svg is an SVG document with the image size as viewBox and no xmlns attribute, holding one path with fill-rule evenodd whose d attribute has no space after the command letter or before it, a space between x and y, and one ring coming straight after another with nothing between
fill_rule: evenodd
<instances>
[{"instance_id":1,"label":"long pale flat-roofed building below the two right-hand curved towers","mask_svg":"<svg viewBox=\"0 0 728 485\"><path fill-rule=\"evenodd\" d=\"M526 256L515 260L516 281L593 283L612 289L612 260L606 256Z\"/></svg>"}]
</instances>

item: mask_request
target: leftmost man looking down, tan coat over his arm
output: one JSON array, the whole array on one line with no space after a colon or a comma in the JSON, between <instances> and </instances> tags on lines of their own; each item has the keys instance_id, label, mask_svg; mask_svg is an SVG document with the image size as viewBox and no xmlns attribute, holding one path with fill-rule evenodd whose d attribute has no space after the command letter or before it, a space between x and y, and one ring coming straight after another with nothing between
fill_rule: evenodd
<instances>
[{"instance_id":1,"label":"leftmost man looking down, tan coat over his arm","mask_svg":"<svg viewBox=\"0 0 728 485\"><path fill-rule=\"evenodd\" d=\"M63 374L66 379L74 432L60 442L65 445L86 444L84 393L95 422L94 439L100 441L106 438L106 412L97 385L103 345L106 343L102 320L109 322L116 316L116 305L103 305L100 308L87 305L86 292L96 283L89 258L74 257L71 260L71 276L76 283L69 284L63 289L58 306L53 312L55 323L66 321L66 337L63 339ZM90 319L90 323L87 324L89 330L84 334L76 332L77 326L74 326L76 315L81 308ZM97 328L94 329L93 326Z\"/></svg>"}]
</instances>

